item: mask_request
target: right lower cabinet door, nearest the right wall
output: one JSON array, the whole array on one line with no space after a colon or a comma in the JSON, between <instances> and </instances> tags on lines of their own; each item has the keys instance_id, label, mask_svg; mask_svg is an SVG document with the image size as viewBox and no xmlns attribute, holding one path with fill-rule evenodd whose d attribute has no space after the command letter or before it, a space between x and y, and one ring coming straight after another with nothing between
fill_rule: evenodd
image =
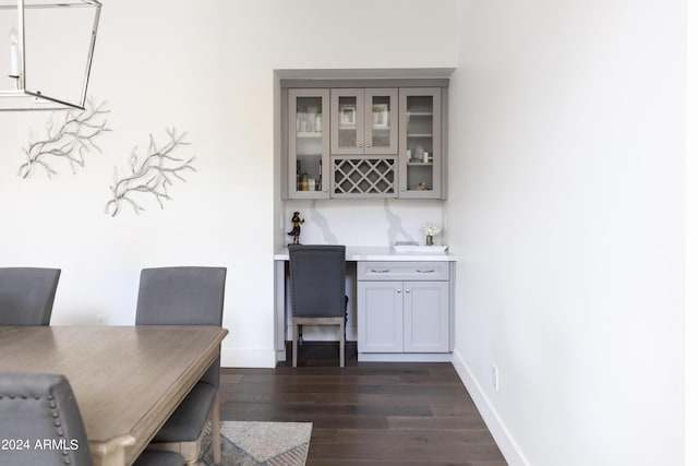
<instances>
[{"instance_id":1,"label":"right lower cabinet door, nearest the right wall","mask_svg":"<svg viewBox=\"0 0 698 466\"><path fill-rule=\"evenodd\" d=\"M404 351L448 351L448 282L405 282L402 288Z\"/></svg>"}]
</instances>

